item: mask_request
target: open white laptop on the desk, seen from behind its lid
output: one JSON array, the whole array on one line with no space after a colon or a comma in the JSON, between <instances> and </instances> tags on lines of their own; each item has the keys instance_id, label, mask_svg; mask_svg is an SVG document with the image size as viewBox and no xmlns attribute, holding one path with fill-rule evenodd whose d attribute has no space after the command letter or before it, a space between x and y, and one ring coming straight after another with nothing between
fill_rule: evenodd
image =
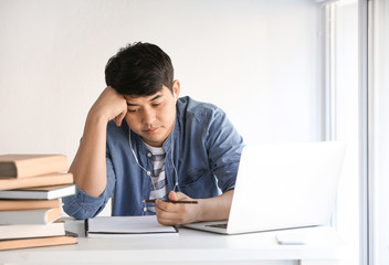
<instances>
[{"instance_id":1,"label":"open white laptop on the desk, seen from behind its lid","mask_svg":"<svg viewBox=\"0 0 389 265\"><path fill-rule=\"evenodd\" d=\"M185 226L239 234L327 224L345 148L336 141L246 146L229 220Z\"/></svg>"}]
</instances>

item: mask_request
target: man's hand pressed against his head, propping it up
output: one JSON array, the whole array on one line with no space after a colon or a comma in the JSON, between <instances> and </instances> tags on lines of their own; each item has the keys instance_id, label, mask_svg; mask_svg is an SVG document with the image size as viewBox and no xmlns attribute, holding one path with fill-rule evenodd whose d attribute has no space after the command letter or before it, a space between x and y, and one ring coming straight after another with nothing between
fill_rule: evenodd
<instances>
[{"instance_id":1,"label":"man's hand pressed against his head, propping it up","mask_svg":"<svg viewBox=\"0 0 389 265\"><path fill-rule=\"evenodd\" d=\"M95 104L90 110L90 118L104 118L106 123L115 119L117 126L122 125L127 114L127 102L123 95L118 94L114 88L108 86L99 95Z\"/></svg>"}]
</instances>

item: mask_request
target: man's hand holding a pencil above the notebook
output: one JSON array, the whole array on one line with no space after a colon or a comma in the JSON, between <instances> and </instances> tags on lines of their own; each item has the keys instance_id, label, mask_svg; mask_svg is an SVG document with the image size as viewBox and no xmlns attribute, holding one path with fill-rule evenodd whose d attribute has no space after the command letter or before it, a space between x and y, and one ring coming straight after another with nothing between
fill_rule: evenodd
<instances>
[{"instance_id":1,"label":"man's hand holding a pencil above the notebook","mask_svg":"<svg viewBox=\"0 0 389 265\"><path fill-rule=\"evenodd\" d=\"M191 201L192 199L181 192L170 191L170 201ZM162 200L156 201L158 222L164 225L186 224L198 221L200 204L172 203Z\"/></svg>"}]
</instances>

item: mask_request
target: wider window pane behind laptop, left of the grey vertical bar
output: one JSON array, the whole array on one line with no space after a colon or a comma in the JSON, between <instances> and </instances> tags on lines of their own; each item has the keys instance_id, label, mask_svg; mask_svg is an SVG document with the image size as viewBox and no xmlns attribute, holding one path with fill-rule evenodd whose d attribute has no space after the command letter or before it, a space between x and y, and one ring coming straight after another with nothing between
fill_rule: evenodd
<instances>
[{"instance_id":1,"label":"wider window pane behind laptop, left of the grey vertical bar","mask_svg":"<svg viewBox=\"0 0 389 265\"><path fill-rule=\"evenodd\" d=\"M347 239L343 264L359 258L358 1L322 6L325 138L347 142L333 225Z\"/></svg>"}]
</instances>

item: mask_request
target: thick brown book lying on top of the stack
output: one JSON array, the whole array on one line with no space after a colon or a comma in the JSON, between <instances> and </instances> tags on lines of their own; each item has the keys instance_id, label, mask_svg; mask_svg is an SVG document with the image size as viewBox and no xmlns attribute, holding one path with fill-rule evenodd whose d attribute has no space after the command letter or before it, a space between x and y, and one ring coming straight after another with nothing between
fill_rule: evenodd
<instances>
[{"instance_id":1,"label":"thick brown book lying on top of the stack","mask_svg":"<svg viewBox=\"0 0 389 265\"><path fill-rule=\"evenodd\" d=\"M0 178L29 178L69 170L65 155L2 155Z\"/></svg>"}]
</instances>

